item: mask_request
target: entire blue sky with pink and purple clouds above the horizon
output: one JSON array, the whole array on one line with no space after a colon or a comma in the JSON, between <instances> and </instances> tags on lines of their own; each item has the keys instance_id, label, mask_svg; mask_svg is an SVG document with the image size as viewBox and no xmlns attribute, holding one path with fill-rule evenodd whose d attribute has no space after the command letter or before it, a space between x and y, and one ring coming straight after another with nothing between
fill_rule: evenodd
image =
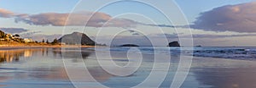
<instances>
[{"instance_id":1,"label":"entire blue sky with pink and purple clouds above the horizon","mask_svg":"<svg viewBox=\"0 0 256 88\"><path fill-rule=\"evenodd\" d=\"M36 41L79 31L108 45L255 47L255 14L255 0L0 0L0 30Z\"/></svg>"}]
</instances>

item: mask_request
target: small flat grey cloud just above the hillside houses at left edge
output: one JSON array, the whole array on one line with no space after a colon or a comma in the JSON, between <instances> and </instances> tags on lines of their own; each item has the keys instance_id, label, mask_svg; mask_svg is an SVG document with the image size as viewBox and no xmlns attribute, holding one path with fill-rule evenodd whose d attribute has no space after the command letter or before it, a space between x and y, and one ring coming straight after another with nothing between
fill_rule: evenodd
<instances>
[{"instance_id":1,"label":"small flat grey cloud just above the hillside houses at left edge","mask_svg":"<svg viewBox=\"0 0 256 88\"><path fill-rule=\"evenodd\" d=\"M11 33L11 34L22 33L22 32L28 31L23 28L0 28L0 30L3 30L3 32L7 32L7 33Z\"/></svg>"}]
</instances>

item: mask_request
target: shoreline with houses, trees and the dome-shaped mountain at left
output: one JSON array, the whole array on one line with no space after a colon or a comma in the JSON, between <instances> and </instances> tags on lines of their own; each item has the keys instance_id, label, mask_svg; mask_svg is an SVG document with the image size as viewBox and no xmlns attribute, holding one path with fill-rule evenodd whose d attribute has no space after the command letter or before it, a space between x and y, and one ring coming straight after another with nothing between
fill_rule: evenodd
<instances>
[{"instance_id":1,"label":"shoreline with houses, trees and the dome-shaped mountain at left","mask_svg":"<svg viewBox=\"0 0 256 88\"><path fill-rule=\"evenodd\" d=\"M54 41L42 40L33 41L29 38L22 38L20 35L7 34L0 30L0 47L95 47L102 46L96 44L88 36L83 33L73 32L62 36L60 39L55 38Z\"/></svg>"}]
</instances>

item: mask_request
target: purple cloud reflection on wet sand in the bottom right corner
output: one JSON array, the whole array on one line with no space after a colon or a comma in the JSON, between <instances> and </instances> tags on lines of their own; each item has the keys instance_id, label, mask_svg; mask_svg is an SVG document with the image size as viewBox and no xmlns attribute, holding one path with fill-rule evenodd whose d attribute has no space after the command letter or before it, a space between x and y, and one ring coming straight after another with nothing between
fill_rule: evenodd
<instances>
[{"instance_id":1,"label":"purple cloud reflection on wet sand in the bottom right corner","mask_svg":"<svg viewBox=\"0 0 256 88\"><path fill-rule=\"evenodd\" d=\"M197 63L204 67L191 70L201 85L211 88L256 88L256 65L253 61L232 59L204 60L208 63ZM207 66L207 67L206 67Z\"/></svg>"}]
</instances>

